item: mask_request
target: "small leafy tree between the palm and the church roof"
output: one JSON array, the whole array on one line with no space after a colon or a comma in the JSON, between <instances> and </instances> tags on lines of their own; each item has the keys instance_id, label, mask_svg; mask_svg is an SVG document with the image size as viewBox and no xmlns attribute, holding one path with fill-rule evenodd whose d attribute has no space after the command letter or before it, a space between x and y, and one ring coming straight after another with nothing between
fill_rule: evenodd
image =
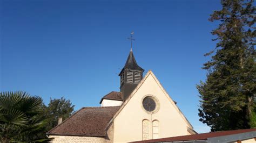
<instances>
[{"instance_id":1,"label":"small leafy tree between the palm and the church roof","mask_svg":"<svg viewBox=\"0 0 256 143\"><path fill-rule=\"evenodd\" d=\"M44 117L48 119L48 124L45 126L45 133L58 125L58 118L63 120L69 118L74 113L75 105L72 105L70 100L64 97L60 99L51 99L48 106L44 105Z\"/></svg>"}]
</instances>

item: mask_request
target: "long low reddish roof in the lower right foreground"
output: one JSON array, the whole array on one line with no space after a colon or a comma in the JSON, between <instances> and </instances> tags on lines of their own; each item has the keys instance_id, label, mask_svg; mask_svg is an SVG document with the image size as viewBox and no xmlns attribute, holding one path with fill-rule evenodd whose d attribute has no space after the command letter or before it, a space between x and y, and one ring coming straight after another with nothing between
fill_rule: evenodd
<instances>
[{"instance_id":1,"label":"long low reddish roof in the lower right foreground","mask_svg":"<svg viewBox=\"0 0 256 143\"><path fill-rule=\"evenodd\" d=\"M256 131L256 128L244 129L244 130L232 130L232 131L219 131L219 132L210 132L210 133L200 133L193 135L183 135L178 137L171 138L162 138L162 139L152 139L144 141L134 141L134 142L171 142L171 141L189 141L189 140L207 140L207 138L220 137L224 135L232 135L238 133L246 133Z\"/></svg>"}]
</instances>

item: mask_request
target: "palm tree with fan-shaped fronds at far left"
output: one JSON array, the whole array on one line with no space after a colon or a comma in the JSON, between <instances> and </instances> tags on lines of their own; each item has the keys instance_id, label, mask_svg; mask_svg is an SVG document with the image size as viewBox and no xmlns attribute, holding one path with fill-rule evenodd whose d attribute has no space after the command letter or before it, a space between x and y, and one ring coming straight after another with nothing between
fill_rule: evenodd
<instances>
[{"instance_id":1,"label":"palm tree with fan-shaped fronds at far left","mask_svg":"<svg viewBox=\"0 0 256 143\"><path fill-rule=\"evenodd\" d=\"M0 142L33 141L46 120L38 119L42 98L26 92L0 92Z\"/></svg>"}]
</instances>

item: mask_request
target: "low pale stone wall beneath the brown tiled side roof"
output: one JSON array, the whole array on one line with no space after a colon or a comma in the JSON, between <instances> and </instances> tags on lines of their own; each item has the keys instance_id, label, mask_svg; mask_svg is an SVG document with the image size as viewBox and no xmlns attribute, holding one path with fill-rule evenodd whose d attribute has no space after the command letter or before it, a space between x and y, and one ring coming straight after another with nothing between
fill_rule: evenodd
<instances>
[{"instance_id":1,"label":"low pale stone wall beneath the brown tiled side roof","mask_svg":"<svg viewBox=\"0 0 256 143\"><path fill-rule=\"evenodd\" d=\"M68 142L106 142L106 139L100 137L79 137L79 136L64 136L64 135L49 135L49 138L54 138L51 143L68 143Z\"/></svg>"}]
</instances>

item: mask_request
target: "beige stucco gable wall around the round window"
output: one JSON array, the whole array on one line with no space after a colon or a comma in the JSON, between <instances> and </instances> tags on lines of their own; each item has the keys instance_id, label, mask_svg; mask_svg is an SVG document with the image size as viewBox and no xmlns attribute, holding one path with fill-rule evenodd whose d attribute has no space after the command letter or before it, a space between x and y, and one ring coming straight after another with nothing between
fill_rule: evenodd
<instances>
[{"instance_id":1,"label":"beige stucco gable wall around the round window","mask_svg":"<svg viewBox=\"0 0 256 143\"><path fill-rule=\"evenodd\" d=\"M124 108L114 119L114 142L127 142L142 140L142 120L159 120L159 138L187 135L189 126L175 104L166 97L160 83L148 73L137 92L126 101ZM142 99L146 95L153 95L159 101L159 110L154 114L146 113L142 106ZM150 126L150 139L152 139L152 126Z\"/></svg>"}]
</instances>

